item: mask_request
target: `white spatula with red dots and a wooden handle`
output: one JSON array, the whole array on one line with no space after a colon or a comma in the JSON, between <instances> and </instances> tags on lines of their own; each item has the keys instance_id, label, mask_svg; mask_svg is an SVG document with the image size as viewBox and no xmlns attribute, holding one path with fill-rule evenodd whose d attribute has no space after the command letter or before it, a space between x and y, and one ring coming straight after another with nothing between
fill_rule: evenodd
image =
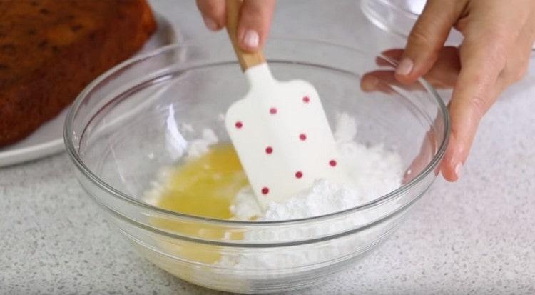
<instances>
[{"instance_id":1,"label":"white spatula with red dots and a wooden handle","mask_svg":"<svg viewBox=\"0 0 535 295\"><path fill-rule=\"evenodd\" d=\"M227 0L227 30L250 89L230 106L225 124L260 204L284 201L316 179L340 181L335 139L316 89L307 81L273 79L262 52L238 47L240 5Z\"/></svg>"}]
</instances>

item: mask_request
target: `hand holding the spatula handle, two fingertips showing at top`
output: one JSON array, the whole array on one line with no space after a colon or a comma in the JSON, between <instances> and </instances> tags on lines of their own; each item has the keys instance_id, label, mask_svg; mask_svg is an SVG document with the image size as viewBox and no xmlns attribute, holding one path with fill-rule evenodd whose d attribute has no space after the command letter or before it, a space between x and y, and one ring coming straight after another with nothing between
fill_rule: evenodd
<instances>
[{"instance_id":1,"label":"hand holding the spatula handle, two fingertips showing at top","mask_svg":"<svg viewBox=\"0 0 535 295\"><path fill-rule=\"evenodd\" d=\"M197 0L203 20L212 31L223 29L226 24L225 0ZM238 21L238 45L245 51L263 47L269 34L275 0L244 0Z\"/></svg>"}]
</instances>

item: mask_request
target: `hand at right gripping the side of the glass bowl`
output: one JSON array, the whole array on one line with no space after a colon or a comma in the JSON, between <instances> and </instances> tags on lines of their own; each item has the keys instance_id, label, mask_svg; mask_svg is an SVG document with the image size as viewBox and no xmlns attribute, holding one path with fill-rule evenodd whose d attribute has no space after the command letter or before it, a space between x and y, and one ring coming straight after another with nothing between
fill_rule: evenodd
<instances>
[{"instance_id":1,"label":"hand at right gripping the side of the glass bowl","mask_svg":"<svg viewBox=\"0 0 535 295\"><path fill-rule=\"evenodd\" d=\"M452 27L464 35L457 60L443 54ZM427 1L395 78L412 84L436 64L454 69L460 63L449 105L452 134L441 164L445 179L459 179L479 121L501 91L524 76L534 40L535 1Z\"/></svg>"}]
</instances>

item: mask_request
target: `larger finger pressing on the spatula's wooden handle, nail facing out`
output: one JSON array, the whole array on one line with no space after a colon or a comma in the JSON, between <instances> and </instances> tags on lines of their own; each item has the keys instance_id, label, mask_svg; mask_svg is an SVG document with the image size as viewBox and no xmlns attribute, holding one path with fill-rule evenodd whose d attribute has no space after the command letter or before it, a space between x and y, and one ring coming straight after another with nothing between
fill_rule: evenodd
<instances>
[{"instance_id":1,"label":"larger finger pressing on the spatula's wooden handle, nail facing out","mask_svg":"<svg viewBox=\"0 0 535 295\"><path fill-rule=\"evenodd\" d=\"M240 10L238 44L245 51L263 47L270 31L275 0L245 0Z\"/></svg>"}]
</instances>

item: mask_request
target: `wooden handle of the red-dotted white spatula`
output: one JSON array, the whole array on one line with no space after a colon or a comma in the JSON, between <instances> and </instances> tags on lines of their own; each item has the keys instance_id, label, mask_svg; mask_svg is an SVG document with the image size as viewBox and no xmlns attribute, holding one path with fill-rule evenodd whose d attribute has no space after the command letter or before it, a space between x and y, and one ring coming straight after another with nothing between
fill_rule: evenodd
<instances>
[{"instance_id":1,"label":"wooden handle of the red-dotted white spatula","mask_svg":"<svg viewBox=\"0 0 535 295\"><path fill-rule=\"evenodd\" d=\"M250 53L243 51L238 46L238 17L241 5L242 0L227 0L227 32L233 43L236 56L238 56L238 61L240 61L242 71L246 71L250 67L262 64L265 59L261 50Z\"/></svg>"}]
</instances>

